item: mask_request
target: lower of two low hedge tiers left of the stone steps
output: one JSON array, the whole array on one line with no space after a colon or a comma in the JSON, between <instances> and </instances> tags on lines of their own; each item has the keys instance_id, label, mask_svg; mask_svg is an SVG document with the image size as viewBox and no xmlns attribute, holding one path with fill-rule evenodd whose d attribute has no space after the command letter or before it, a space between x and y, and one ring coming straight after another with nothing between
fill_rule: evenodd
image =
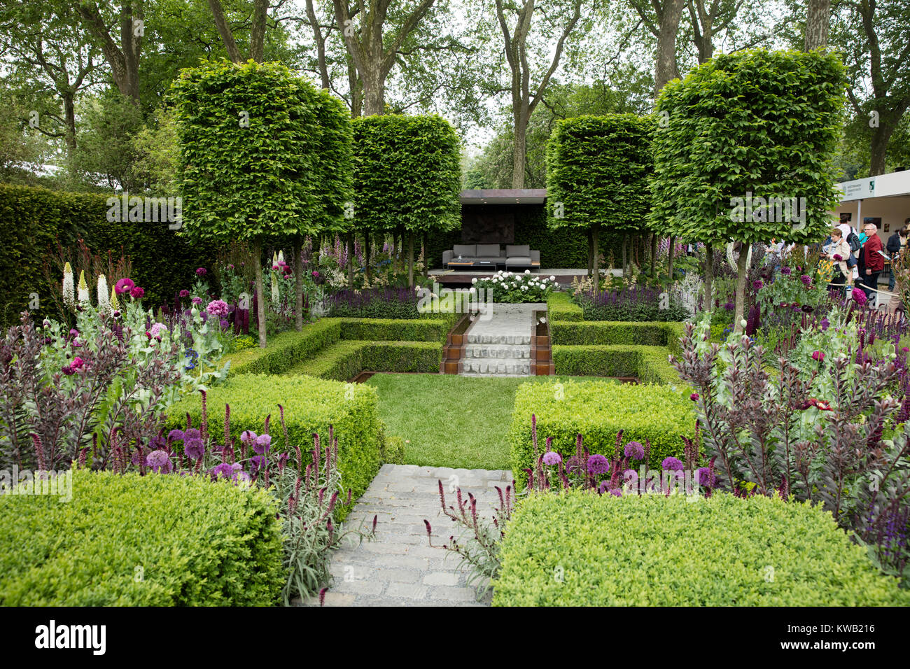
<instances>
[{"instance_id":1,"label":"lower of two low hedge tiers left of the stone steps","mask_svg":"<svg viewBox=\"0 0 910 669\"><path fill-rule=\"evenodd\" d=\"M442 362L438 341L345 340L324 350L318 358L288 370L322 379L349 380L361 371L421 371L436 373Z\"/></svg>"}]
</instances>

